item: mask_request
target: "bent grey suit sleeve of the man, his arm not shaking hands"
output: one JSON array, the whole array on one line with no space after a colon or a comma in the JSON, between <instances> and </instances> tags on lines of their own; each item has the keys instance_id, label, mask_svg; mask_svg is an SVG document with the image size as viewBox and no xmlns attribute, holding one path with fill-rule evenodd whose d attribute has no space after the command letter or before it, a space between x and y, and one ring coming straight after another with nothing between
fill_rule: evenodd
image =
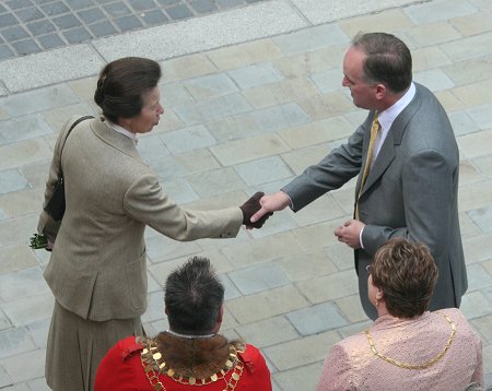
<instances>
[{"instance_id":1,"label":"bent grey suit sleeve of the man, his arm not shaking hands","mask_svg":"<svg viewBox=\"0 0 492 391\"><path fill-rule=\"evenodd\" d=\"M457 197L457 169L435 150L421 151L410 156L401 177L407 226L393 228L366 225L362 234L364 250L374 256L388 239L405 237L424 242L434 258L445 252L453 218L449 211Z\"/></svg>"}]
</instances>

